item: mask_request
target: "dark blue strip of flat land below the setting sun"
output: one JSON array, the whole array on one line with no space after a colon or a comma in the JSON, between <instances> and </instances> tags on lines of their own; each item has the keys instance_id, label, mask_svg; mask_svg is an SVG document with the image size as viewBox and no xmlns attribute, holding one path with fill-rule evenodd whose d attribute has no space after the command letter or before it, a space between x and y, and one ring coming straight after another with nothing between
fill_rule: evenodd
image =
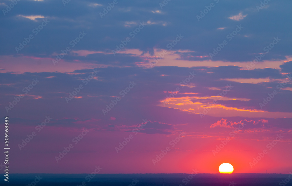
<instances>
[{"instance_id":1,"label":"dark blue strip of flat land below the setting sun","mask_svg":"<svg viewBox=\"0 0 292 186\"><path fill-rule=\"evenodd\" d=\"M163 184L164 186L278 186L282 180L285 180L289 176L289 174L197 174L190 179L190 181L187 181L186 178L189 175L190 174L96 174L88 182L88 177L86 179L88 174L10 174L9 183L7 183L4 181L4 176L2 174L0 185L26 186L34 181L36 178L35 176L40 176L41 180L36 183L35 186L77 186L81 185L82 182L85 182L86 186L131 186L133 179L139 180L135 186L162 186ZM286 181L287 180L288 179L286 179ZM135 182L133 183L135 184ZM292 185L292 180L285 186L290 185Z\"/></svg>"}]
</instances>

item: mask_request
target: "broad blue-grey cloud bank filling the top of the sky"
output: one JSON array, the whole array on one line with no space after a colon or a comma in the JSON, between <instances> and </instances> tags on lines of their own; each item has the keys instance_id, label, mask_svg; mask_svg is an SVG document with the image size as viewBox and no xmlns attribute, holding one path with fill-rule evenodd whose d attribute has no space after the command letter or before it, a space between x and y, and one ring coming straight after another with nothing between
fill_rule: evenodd
<instances>
[{"instance_id":1,"label":"broad blue-grey cloud bank filling the top of the sky","mask_svg":"<svg viewBox=\"0 0 292 186\"><path fill-rule=\"evenodd\" d=\"M2 1L10 4L11 1ZM92 4L102 6L91 6ZM240 4L240 5L239 5ZM121 44L130 32L138 27L139 22L149 23L126 45L126 48L139 49L153 54L153 48L167 49L167 44L172 42L177 34L183 39L173 48L175 50L190 50L194 52L181 52L183 60L206 60L209 53L213 52L219 43L226 39L227 34L232 33L237 25L244 28L216 55L212 60L223 61L251 61L260 53L265 52L264 47L269 45L274 37L281 39L263 60L284 60L291 55L289 30L291 25L286 24L291 19L290 10L286 7L288 2L269 2L265 9L257 11L257 2L248 0L242 3L222 0L200 21L196 15L204 10L207 2L199 1L172 1L163 9L158 1L127 1L119 2L103 18L99 12L107 6L104 1L70 1L66 6L62 1L22 1L17 4L6 16L1 16L1 41L5 45L0 46L1 55L17 55L15 47L24 37L32 34L32 30L41 24L42 18L30 20L18 15L42 15L50 21L25 48L20 51L23 55L48 57L53 53L60 53L69 46L69 42L75 39L80 31L84 31L81 41L76 44L74 50L112 51L116 45ZM1 4L1 9L5 8ZM237 7L237 8L236 8ZM160 13L153 13L155 11ZM153 11L153 12L152 12ZM247 15L244 19L235 21L230 16L240 12ZM125 26L127 25L127 26ZM218 28L225 29L218 29ZM15 29L17 28L17 29ZM133 65L140 59L134 57L95 54L87 57L66 56L66 59L95 61L104 64L106 62L125 63ZM121 57L121 59L119 58ZM130 65L131 66L131 65Z\"/></svg>"}]
</instances>

